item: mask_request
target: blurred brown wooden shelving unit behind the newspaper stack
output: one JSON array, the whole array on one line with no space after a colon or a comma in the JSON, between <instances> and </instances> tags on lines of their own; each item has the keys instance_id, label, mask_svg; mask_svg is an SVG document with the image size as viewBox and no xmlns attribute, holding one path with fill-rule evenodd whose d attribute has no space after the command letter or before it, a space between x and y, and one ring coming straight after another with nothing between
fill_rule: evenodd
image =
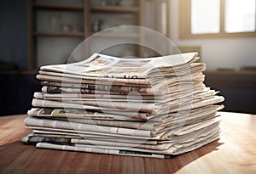
<instances>
[{"instance_id":1,"label":"blurred brown wooden shelving unit behind the newspaper stack","mask_svg":"<svg viewBox=\"0 0 256 174\"><path fill-rule=\"evenodd\" d=\"M125 2L125 4L111 4L113 1L27 0L28 70L38 70L41 65L46 64L65 63L80 42L109 27L138 25L157 30L157 27L153 25L157 25L155 21L159 20L159 16L156 16L154 21L152 20L152 15L156 13L156 9L153 8L156 7L157 2L164 1L122 0L119 2ZM148 3L151 3L152 9L145 11ZM146 14L151 12L152 15ZM152 20L153 23L146 25L146 18ZM102 25L97 26L95 22L100 20ZM74 29L75 27L77 28ZM142 42L143 36L141 33L131 32L97 33L96 35L97 42L105 42L108 39L137 39L138 42ZM90 48L88 50L90 54ZM143 57L142 47L136 46L132 51L137 56Z\"/></svg>"}]
</instances>

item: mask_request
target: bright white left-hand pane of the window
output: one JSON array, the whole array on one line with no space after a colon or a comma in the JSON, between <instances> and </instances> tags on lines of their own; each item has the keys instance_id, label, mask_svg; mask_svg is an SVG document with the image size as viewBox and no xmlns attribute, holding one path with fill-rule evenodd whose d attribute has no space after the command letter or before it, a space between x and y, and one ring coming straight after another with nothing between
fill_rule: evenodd
<instances>
[{"instance_id":1,"label":"bright white left-hand pane of the window","mask_svg":"<svg viewBox=\"0 0 256 174\"><path fill-rule=\"evenodd\" d=\"M219 25L220 0L191 0L192 34L219 33Z\"/></svg>"}]
</instances>

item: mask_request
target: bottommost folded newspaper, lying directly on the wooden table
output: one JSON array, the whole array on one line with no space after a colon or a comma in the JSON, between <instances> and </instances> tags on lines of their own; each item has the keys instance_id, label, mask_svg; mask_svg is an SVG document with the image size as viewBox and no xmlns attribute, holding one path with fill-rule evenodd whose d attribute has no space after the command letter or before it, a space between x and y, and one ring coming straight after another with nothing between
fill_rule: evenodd
<instances>
[{"instance_id":1,"label":"bottommost folded newspaper, lying directly on the wooden table","mask_svg":"<svg viewBox=\"0 0 256 174\"><path fill-rule=\"evenodd\" d=\"M74 145L58 145L53 143L37 143L38 148L45 148L45 149L62 149L62 150L73 150L73 151L81 151L81 152L91 152L91 153L100 153L100 154L119 154L119 150L125 150L129 152L133 152L131 154L140 154L140 153L148 153L149 156L152 154L183 154L185 152L191 151L193 149L200 148L201 146L210 143L216 139L218 139L219 132L215 130L209 134L201 135L196 137L191 142L186 143L172 143L166 145L156 145L152 146L155 149L149 149L150 145L139 145L140 148L125 148L119 146L107 146L107 145L90 145L90 144L82 144L82 143L75 143ZM95 142L94 142L95 143ZM144 146L144 147L143 147ZM113 150L116 150L113 152ZM137 152L137 153L136 153ZM140 156L140 155L137 155ZM155 157L155 156L154 156ZM161 157L163 158L163 157Z\"/></svg>"}]
</instances>

